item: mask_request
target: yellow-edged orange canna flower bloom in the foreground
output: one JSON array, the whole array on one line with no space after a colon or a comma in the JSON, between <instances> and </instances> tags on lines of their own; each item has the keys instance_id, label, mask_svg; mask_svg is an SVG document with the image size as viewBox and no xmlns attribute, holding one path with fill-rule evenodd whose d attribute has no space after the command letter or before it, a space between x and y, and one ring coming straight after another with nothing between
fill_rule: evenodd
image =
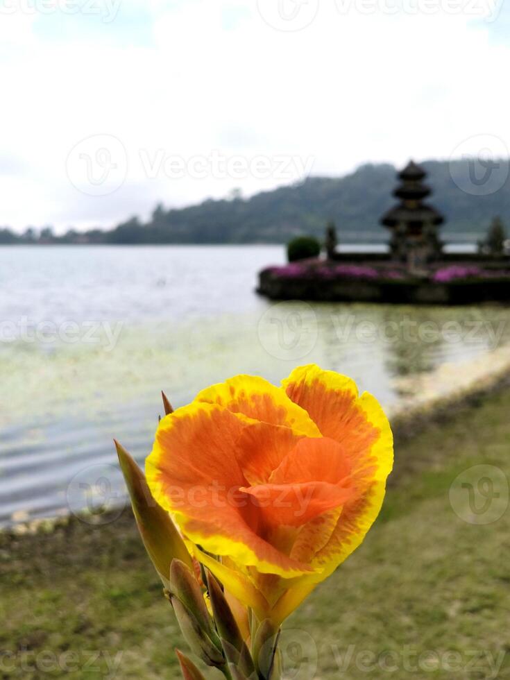
<instances>
[{"instance_id":1,"label":"yellow-edged orange canna flower bloom in the foreground","mask_svg":"<svg viewBox=\"0 0 510 680\"><path fill-rule=\"evenodd\" d=\"M280 388L238 375L163 418L146 479L196 559L278 625L363 541L392 464L377 400L310 365Z\"/></svg>"}]
</instances>

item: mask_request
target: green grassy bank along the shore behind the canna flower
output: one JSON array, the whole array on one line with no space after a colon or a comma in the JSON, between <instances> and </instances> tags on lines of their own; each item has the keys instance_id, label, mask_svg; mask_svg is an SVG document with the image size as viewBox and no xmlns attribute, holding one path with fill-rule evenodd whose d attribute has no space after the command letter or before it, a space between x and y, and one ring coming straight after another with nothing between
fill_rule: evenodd
<instances>
[{"instance_id":1,"label":"green grassy bank along the shore behind the canna flower","mask_svg":"<svg viewBox=\"0 0 510 680\"><path fill-rule=\"evenodd\" d=\"M400 438L382 516L287 622L289 677L510 678L504 488L484 525L472 523L484 514L466 489L457 512L449 495L471 466L508 479L509 403L504 388ZM99 526L0 535L0 620L2 678L179 677L173 647L185 643L130 510Z\"/></svg>"}]
</instances>

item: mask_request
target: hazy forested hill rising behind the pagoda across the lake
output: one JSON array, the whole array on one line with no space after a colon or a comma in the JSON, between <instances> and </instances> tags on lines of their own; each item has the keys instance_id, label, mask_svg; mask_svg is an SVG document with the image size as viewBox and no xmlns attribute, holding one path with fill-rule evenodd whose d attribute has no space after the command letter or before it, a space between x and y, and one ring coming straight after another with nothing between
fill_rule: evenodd
<instances>
[{"instance_id":1,"label":"hazy forested hill rising behind the pagoda across the lake","mask_svg":"<svg viewBox=\"0 0 510 680\"><path fill-rule=\"evenodd\" d=\"M496 215L510 226L507 160L488 173L487 182L479 176L470 179L467 161L430 161L423 167L429 173L427 183L434 189L430 203L447 218L443 237L475 241ZM134 217L108 232L69 232L59 240L119 244L284 243L298 234L322 237L326 222L332 219L341 241L383 241L387 232L379 219L395 203L391 196L395 187L393 166L364 165L341 178L311 177L246 200L207 200L178 210L158 207L148 223Z\"/></svg>"}]
</instances>

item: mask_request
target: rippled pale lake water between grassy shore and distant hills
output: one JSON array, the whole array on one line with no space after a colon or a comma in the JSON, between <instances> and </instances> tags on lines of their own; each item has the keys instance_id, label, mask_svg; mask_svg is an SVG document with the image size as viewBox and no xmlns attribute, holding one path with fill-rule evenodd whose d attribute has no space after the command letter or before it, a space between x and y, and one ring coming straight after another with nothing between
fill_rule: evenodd
<instances>
[{"instance_id":1,"label":"rippled pale lake water between grassy shore and distant hills","mask_svg":"<svg viewBox=\"0 0 510 680\"><path fill-rule=\"evenodd\" d=\"M257 271L283 262L280 246L0 248L0 525L117 506L112 439L143 461L162 389L178 407L316 362L396 405L402 376L509 340L501 307L269 303Z\"/></svg>"}]
</instances>

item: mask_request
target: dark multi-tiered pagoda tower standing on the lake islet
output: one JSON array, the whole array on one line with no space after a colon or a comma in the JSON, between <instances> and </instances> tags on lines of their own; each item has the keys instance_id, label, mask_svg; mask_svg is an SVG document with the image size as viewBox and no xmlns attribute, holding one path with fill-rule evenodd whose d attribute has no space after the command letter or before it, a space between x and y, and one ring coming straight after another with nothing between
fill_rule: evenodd
<instances>
[{"instance_id":1,"label":"dark multi-tiered pagoda tower standing on the lake islet","mask_svg":"<svg viewBox=\"0 0 510 680\"><path fill-rule=\"evenodd\" d=\"M423 199L432 192L423 184L427 173L412 160L398 173L400 184L393 196L400 203L382 216L381 223L391 230L390 250L393 260L405 262L418 273L441 257L439 226L443 216Z\"/></svg>"}]
</instances>

